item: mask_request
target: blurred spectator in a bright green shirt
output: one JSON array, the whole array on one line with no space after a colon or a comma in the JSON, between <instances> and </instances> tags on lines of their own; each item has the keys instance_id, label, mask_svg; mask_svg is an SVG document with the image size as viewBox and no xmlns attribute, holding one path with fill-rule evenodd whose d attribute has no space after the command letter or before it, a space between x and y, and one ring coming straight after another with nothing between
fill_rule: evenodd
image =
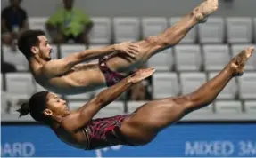
<instances>
[{"instance_id":1,"label":"blurred spectator in a bright green shirt","mask_svg":"<svg viewBox=\"0 0 256 158\"><path fill-rule=\"evenodd\" d=\"M46 28L54 43L67 43L70 39L75 43L88 44L88 33L93 22L86 13L73 8L73 0L63 0L64 8L59 9L46 22Z\"/></svg>"}]
</instances>

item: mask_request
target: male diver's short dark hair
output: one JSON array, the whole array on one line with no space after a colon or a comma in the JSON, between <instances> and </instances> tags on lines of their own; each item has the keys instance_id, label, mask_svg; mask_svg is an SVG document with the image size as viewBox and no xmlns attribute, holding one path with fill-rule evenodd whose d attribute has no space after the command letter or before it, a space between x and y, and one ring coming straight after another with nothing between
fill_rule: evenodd
<instances>
[{"instance_id":1,"label":"male diver's short dark hair","mask_svg":"<svg viewBox=\"0 0 256 158\"><path fill-rule=\"evenodd\" d=\"M45 36L45 32L42 30L27 30L18 39L18 48L27 59L32 56L31 47L39 44L37 36Z\"/></svg>"}]
</instances>

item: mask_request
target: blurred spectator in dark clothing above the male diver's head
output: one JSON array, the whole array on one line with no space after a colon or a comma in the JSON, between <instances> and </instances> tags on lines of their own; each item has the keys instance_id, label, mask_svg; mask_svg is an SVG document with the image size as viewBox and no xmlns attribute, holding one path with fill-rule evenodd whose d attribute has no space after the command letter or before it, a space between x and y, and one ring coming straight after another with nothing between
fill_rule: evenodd
<instances>
[{"instance_id":1,"label":"blurred spectator in dark clothing above the male diver's head","mask_svg":"<svg viewBox=\"0 0 256 158\"><path fill-rule=\"evenodd\" d=\"M2 42L16 50L17 38L29 29L27 12L20 6L21 0L10 0L10 6L2 11Z\"/></svg>"}]
</instances>

